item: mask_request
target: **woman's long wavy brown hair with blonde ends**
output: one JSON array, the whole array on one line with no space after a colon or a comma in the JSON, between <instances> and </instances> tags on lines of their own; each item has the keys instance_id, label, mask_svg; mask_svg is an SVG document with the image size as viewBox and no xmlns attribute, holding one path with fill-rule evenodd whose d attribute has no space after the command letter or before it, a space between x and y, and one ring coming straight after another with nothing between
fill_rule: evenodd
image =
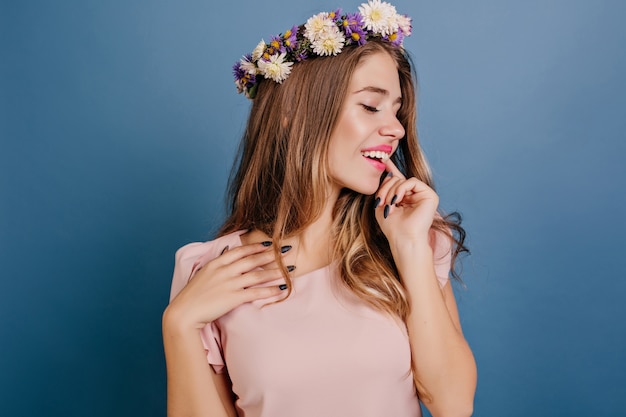
<instances>
[{"instance_id":1,"label":"woman's long wavy brown hair with blonde ends","mask_svg":"<svg viewBox=\"0 0 626 417\"><path fill-rule=\"evenodd\" d=\"M231 173L229 216L219 235L257 229L279 242L317 219L329 185L328 144L347 95L352 73L367 56L387 53L396 62L402 90L398 119L406 131L393 160L407 177L433 187L418 144L414 73L406 53L385 41L346 47L334 57L293 66L282 84L263 80ZM373 196L344 189L333 211L333 260L354 294L375 308L406 319L409 303L389 244L374 218ZM437 216L433 228L450 237L453 259L465 251L457 218ZM278 255L278 246L275 245ZM289 291L291 279L277 256ZM454 265L454 262L453 262ZM456 276L452 269L453 276Z\"/></svg>"}]
</instances>

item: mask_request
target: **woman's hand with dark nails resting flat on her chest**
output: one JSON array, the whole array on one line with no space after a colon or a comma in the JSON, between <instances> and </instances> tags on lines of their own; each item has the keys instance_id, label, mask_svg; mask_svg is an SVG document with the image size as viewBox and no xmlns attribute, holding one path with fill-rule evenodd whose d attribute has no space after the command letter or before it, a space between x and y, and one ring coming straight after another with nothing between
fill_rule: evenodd
<instances>
[{"instance_id":1,"label":"woman's hand with dark nails resting flat on her chest","mask_svg":"<svg viewBox=\"0 0 626 417\"><path fill-rule=\"evenodd\" d=\"M170 302L164 325L200 329L241 304L281 294L278 285L259 286L282 277L275 260L262 243L224 248Z\"/></svg>"}]
</instances>

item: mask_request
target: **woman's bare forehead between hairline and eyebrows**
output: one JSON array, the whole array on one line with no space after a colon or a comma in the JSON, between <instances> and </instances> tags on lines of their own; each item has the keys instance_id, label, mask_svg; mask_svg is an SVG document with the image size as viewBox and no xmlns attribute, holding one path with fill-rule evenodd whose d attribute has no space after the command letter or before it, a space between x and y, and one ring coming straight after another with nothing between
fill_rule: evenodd
<instances>
[{"instance_id":1,"label":"woman's bare forehead between hairline and eyebrows","mask_svg":"<svg viewBox=\"0 0 626 417\"><path fill-rule=\"evenodd\" d=\"M393 96L400 95L398 67L389 54L377 52L359 62L350 79L349 89L358 91L365 87L377 87L389 91Z\"/></svg>"}]
</instances>

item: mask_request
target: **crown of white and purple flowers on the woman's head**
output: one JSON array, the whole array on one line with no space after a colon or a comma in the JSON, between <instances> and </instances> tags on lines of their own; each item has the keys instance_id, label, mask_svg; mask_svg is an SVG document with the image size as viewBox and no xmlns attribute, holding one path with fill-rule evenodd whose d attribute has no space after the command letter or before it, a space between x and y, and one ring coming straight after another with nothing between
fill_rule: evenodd
<instances>
[{"instance_id":1,"label":"crown of white and purple flowers on the woman's head","mask_svg":"<svg viewBox=\"0 0 626 417\"><path fill-rule=\"evenodd\" d=\"M304 25L272 36L269 44L261 40L251 54L233 66L237 92L253 99L258 77L282 83L294 63L313 56L335 56L344 46L365 45L370 39L382 39L402 47L411 34L411 18L398 14L384 1L369 0L358 13L343 14L341 9L322 12Z\"/></svg>"}]
</instances>

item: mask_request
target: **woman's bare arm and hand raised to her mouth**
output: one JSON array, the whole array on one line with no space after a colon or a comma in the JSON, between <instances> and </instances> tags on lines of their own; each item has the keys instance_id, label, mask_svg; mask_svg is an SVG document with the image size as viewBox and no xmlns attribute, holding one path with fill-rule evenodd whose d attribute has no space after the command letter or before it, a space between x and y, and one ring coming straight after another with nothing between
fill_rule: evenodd
<instances>
[{"instance_id":1,"label":"woman's bare arm and hand raised to her mouth","mask_svg":"<svg viewBox=\"0 0 626 417\"><path fill-rule=\"evenodd\" d=\"M391 161L388 169L393 177L377 192L383 204L376 218L409 297L406 324L420 398L435 417L469 416L476 363L461 331L452 287L449 282L439 287L429 244L439 199L423 182L404 178Z\"/></svg>"}]
</instances>

